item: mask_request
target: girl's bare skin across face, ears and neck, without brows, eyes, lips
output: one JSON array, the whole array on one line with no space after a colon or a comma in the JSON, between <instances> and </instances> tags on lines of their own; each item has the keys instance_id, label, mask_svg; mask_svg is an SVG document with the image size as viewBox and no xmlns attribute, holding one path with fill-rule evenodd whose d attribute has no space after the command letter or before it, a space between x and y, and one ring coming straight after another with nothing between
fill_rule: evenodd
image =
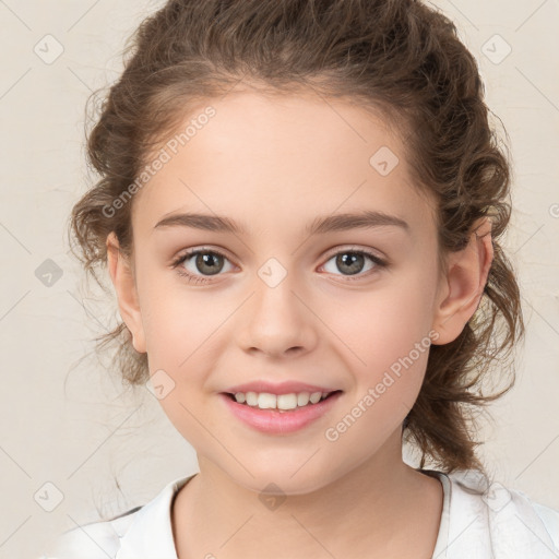
<instances>
[{"instance_id":1,"label":"girl's bare skin across face, ears and neck, without brows, eyes, lips","mask_svg":"<svg viewBox=\"0 0 559 559\"><path fill-rule=\"evenodd\" d=\"M135 195L132 261L107 238L134 348L147 353L151 374L173 379L159 402L199 456L200 473L173 506L178 557L430 558L442 487L402 460L402 423L428 352L336 441L324 432L430 331L436 344L461 333L487 281L490 222L476 224L439 274L433 204L380 117L310 93L272 99L247 90L212 106L216 115ZM400 159L386 176L369 164L383 145ZM405 219L409 235L395 226L304 233L318 216L364 209ZM227 216L247 234L154 229L185 211ZM190 248L226 255L218 275L197 269L195 257L181 264L205 271L205 285L171 267ZM349 249L390 264L365 258L348 275L333 257ZM258 275L270 258L287 272L273 288ZM218 396L258 379L344 393L311 426L272 436L241 424ZM286 497L274 510L259 499L270 483Z\"/></svg>"}]
</instances>

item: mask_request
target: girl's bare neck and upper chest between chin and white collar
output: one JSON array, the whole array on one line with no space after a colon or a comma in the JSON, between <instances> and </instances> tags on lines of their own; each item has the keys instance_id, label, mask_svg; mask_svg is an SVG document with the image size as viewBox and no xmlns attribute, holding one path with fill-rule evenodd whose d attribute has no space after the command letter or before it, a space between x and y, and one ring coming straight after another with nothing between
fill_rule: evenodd
<instances>
[{"instance_id":1,"label":"girl's bare neck and upper chest between chin and white collar","mask_svg":"<svg viewBox=\"0 0 559 559\"><path fill-rule=\"evenodd\" d=\"M416 555L409 557L419 557L418 546L426 550L421 557L431 557L442 488L402 461L396 435L348 474L312 492L275 496L277 500L240 486L200 457L200 474L174 502L179 559L212 557L209 554L245 559L329 554L344 558L348 549L354 558L386 554L404 558L415 532L423 542L413 545Z\"/></svg>"}]
</instances>

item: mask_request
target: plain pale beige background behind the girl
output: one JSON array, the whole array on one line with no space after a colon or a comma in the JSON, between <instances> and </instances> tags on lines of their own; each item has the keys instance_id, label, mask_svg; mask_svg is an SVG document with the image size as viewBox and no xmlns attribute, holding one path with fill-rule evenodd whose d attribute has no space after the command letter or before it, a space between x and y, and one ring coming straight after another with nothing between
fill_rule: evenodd
<instances>
[{"instance_id":1,"label":"plain pale beige background behind the girl","mask_svg":"<svg viewBox=\"0 0 559 559\"><path fill-rule=\"evenodd\" d=\"M104 370L108 359L96 359L91 340L115 324L116 301L87 290L66 239L86 185L85 100L116 79L124 39L158 4L0 1L0 557L36 557L50 535L97 520L97 510L143 504L197 471L157 401L145 389L123 394ZM503 485L559 509L558 1L436 5L477 57L515 162L507 246L527 337L518 348L516 386L490 408L496 425L486 427L480 451ZM57 43L47 34L63 47L51 63L44 58ZM507 45L512 51L499 61ZM47 259L62 272L50 287L35 275ZM63 495L52 512L38 504L56 498L46 483Z\"/></svg>"}]
</instances>

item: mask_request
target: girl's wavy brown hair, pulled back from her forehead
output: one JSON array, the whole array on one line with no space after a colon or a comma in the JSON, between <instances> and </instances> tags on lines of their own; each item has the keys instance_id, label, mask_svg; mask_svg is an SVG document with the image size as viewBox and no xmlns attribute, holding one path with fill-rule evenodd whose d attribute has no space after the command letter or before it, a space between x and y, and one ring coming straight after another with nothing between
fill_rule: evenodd
<instances>
[{"instance_id":1,"label":"girl's wavy brown hair, pulled back from her forehead","mask_svg":"<svg viewBox=\"0 0 559 559\"><path fill-rule=\"evenodd\" d=\"M416 0L168 1L134 34L90 133L88 157L100 180L73 207L80 253L72 251L98 283L94 269L106 263L110 231L124 255L133 253L133 199L114 215L106 209L188 108L241 80L265 94L312 88L389 119L417 188L437 202L441 265L467 243L477 218L491 217L495 257L481 301L454 342L431 346L404 430L421 451L420 467L430 457L447 473L483 472L473 411L513 385L506 358L524 334L519 286L499 245L511 212L510 170L488 123L476 61L435 9ZM134 350L123 322L96 341L98 348L117 344L115 362L128 385L147 381L146 355ZM489 395L481 382L491 364L499 368L490 379L510 382Z\"/></svg>"}]
</instances>

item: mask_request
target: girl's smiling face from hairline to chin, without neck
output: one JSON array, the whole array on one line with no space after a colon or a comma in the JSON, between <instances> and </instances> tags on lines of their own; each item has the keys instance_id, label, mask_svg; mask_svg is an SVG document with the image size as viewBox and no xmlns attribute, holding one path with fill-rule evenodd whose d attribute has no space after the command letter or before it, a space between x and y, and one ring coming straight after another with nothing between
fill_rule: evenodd
<instances>
[{"instance_id":1,"label":"girl's smiling face from hairline to chin, without neck","mask_svg":"<svg viewBox=\"0 0 559 559\"><path fill-rule=\"evenodd\" d=\"M316 490L400 444L441 295L432 205L397 136L357 106L251 92L211 106L134 199L121 313L201 463L255 490ZM247 383L335 393L257 411L225 395Z\"/></svg>"}]
</instances>

